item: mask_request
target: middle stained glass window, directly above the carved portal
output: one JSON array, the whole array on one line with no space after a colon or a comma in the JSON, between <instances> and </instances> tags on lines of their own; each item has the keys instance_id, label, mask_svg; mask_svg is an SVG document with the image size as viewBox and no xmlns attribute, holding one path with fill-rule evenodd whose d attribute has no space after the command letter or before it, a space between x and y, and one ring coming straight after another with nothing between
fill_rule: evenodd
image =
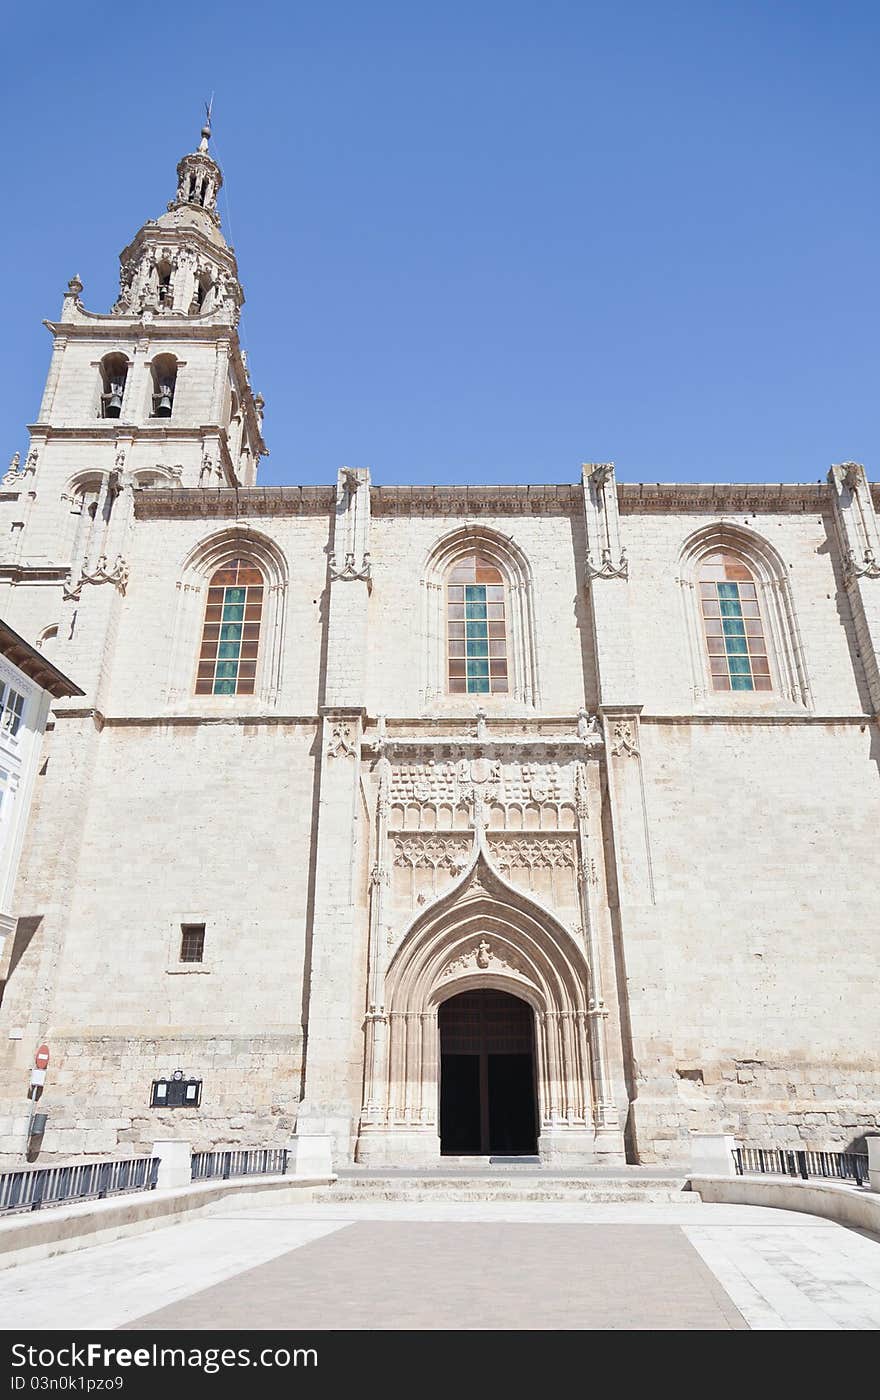
<instances>
[{"instance_id":1,"label":"middle stained glass window, directly above the carved portal","mask_svg":"<svg viewBox=\"0 0 880 1400\"><path fill-rule=\"evenodd\" d=\"M504 578L481 554L446 575L446 655L453 694L506 694Z\"/></svg>"}]
</instances>

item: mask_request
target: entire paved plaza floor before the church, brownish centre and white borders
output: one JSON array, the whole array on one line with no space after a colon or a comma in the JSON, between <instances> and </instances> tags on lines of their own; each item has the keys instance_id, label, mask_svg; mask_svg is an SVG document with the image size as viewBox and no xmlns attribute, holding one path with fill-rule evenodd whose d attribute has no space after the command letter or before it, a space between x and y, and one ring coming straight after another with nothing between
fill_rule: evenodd
<instances>
[{"instance_id":1,"label":"entire paved plaza floor before the church, brownish centre and white borders","mask_svg":"<svg viewBox=\"0 0 880 1400\"><path fill-rule=\"evenodd\" d=\"M873 1330L880 1240L740 1205L239 1204L7 1268L0 1309L22 1330Z\"/></svg>"}]
</instances>

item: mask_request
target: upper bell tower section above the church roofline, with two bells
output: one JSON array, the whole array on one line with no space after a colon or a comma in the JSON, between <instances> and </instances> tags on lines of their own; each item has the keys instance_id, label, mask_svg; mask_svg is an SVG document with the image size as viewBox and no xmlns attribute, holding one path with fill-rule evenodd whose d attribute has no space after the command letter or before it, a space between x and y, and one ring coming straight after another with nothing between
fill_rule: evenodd
<instances>
[{"instance_id":1,"label":"upper bell tower section above the church roofline, with two bells","mask_svg":"<svg viewBox=\"0 0 880 1400\"><path fill-rule=\"evenodd\" d=\"M238 322L245 301L217 213L210 126L178 162L175 197L120 253L119 297L88 311L73 277L38 421L41 486L120 465L134 484L253 486L266 452ZM120 455L125 459L120 462Z\"/></svg>"}]
</instances>

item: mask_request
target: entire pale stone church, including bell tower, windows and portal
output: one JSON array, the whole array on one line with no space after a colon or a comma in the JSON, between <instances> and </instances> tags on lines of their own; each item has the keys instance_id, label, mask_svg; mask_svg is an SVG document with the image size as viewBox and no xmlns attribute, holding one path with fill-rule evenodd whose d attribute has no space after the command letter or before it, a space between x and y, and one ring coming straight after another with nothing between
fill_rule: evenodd
<instances>
[{"instance_id":1,"label":"entire pale stone church, including bell tower, windows and portal","mask_svg":"<svg viewBox=\"0 0 880 1400\"><path fill-rule=\"evenodd\" d=\"M257 484L204 132L0 486L56 700L0 1149L662 1162L880 1127L880 489ZM157 1081L199 1106L151 1106Z\"/></svg>"}]
</instances>

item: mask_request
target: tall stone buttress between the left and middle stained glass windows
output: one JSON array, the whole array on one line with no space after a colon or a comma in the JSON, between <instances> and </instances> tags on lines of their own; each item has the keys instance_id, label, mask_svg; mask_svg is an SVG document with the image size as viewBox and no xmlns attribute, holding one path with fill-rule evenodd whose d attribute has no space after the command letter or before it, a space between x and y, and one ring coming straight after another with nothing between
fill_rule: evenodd
<instances>
[{"instance_id":1,"label":"tall stone buttress between the left and middle stained glass windows","mask_svg":"<svg viewBox=\"0 0 880 1400\"><path fill-rule=\"evenodd\" d=\"M354 1156L364 1095L367 881L361 738L369 603L369 473L343 468L329 566L320 707L315 897L308 969L305 1093L297 1133L329 1133L334 1161ZM340 563L340 550L346 563Z\"/></svg>"}]
</instances>

